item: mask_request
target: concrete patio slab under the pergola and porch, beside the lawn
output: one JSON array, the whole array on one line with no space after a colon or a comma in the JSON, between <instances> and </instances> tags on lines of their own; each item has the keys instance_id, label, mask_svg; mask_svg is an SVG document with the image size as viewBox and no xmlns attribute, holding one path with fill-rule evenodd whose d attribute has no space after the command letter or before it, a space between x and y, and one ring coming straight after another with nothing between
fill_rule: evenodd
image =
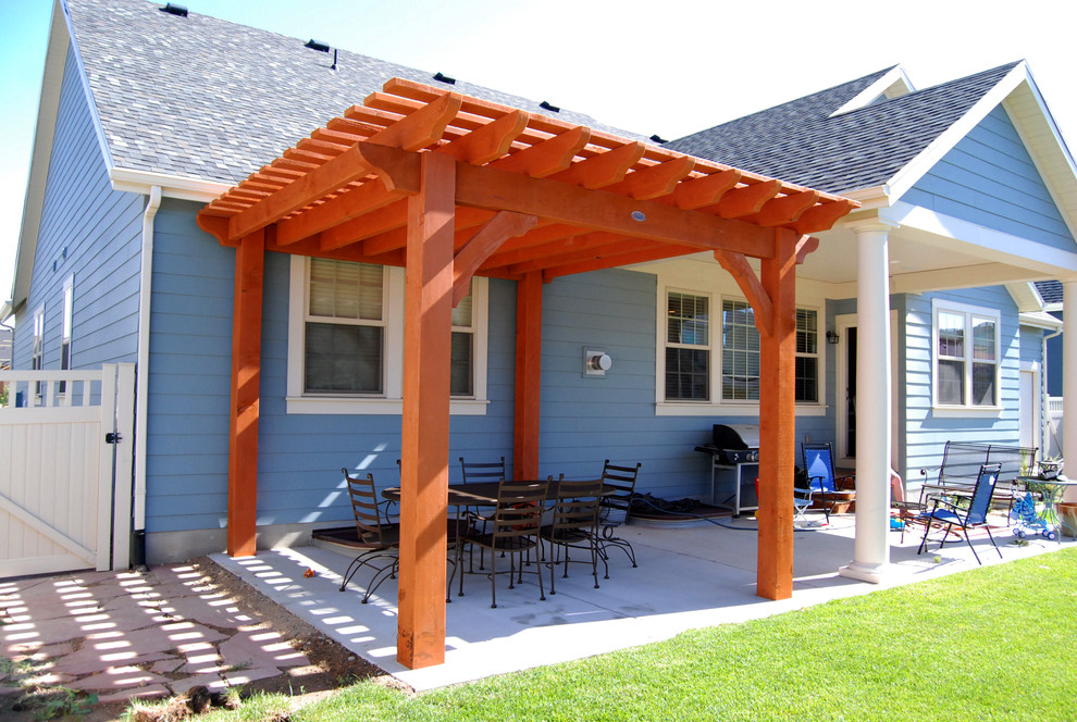
<instances>
[{"instance_id":1,"label":"concrete patio slab under the pergola and porch, beside the lawn","mask_svg":"<svg viewBox=\"0 0 1077 722\"><path fill-rule=\"evenodd\" d=\"M838 570L853 558L852 515L834 516L829 527L796 534L792 599L757 597L756 533L751 519L723 520L729 526L690 528L622 526L619 534L635 547L639 568L623 555L610 558L610 578L593 588L590 569L573 564L569 577L557 580L557 594L540 601L534 574L507 589L498 582L497 609L490 608L490 581L482 574L465 580L465 596L446 608L445 663L408 670L396 661L396 583L383 584L370 602L360 605L360 573L346 592L341 575L350 561L335 550L315 546L259 551L257 557L212 559L274 601L317 626L416 689L454 684L492 674L580 659L602 652L667 639L686 630L742 622L866 594L976 567L968 545L948 544L917 556L919 535L890 536L891 565L882 584L846 578ZM1011 534L996 530L1000 560L986 535L974 536L985 564L1053 551L1066 540L1032 540L1011 545ZM311 569L315 576L305 577ZM556 570L558 574L560 569ZM544 572L545 575L545 572Z\"/></svg>"}]
</instances>

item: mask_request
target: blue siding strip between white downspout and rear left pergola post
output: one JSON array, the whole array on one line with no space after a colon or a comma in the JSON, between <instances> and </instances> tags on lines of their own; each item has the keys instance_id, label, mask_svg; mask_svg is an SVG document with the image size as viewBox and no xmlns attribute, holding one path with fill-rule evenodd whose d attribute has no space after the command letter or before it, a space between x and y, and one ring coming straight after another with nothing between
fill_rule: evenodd
<instances>
[{"instance_id":1,"label":"blue siding strip between white downspout and rear left pergola post","mask_svg":"<svg viewBox=\"0 0 1077 722\"><path fill-rule=\"evenodd\" d=\"M195 224L198 203L154 219L146 531L219 528L227 511L235 251Z\"/></svg>"}]
</instances>

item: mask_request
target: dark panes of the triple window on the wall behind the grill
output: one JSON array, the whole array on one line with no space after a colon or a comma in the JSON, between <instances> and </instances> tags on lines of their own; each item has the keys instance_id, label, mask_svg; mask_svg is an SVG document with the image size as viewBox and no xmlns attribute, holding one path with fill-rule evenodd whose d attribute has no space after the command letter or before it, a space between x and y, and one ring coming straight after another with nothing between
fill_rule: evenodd
<instances>
[{"instance_id":1,"label":"dark panes of the triple window on the wall behind the grill","mask_svg":"<svg viewBox=\"0 0 1077 722\"><path fill-rule=\"evenodd\" d=\"M664 396L665 402L684 401L744 403L759 400L762 357L759 332L755 327L752 306L741 299L720 301L720 334L711 333L710 297L685 290L667 289L665 294ZM717 368L711 358L717 353ZM819 313L814 309L796 310L796 401L820 403L821 361L819 350ZM711 388L720 389L713 398Z\"/></svg>"}]
</instances>

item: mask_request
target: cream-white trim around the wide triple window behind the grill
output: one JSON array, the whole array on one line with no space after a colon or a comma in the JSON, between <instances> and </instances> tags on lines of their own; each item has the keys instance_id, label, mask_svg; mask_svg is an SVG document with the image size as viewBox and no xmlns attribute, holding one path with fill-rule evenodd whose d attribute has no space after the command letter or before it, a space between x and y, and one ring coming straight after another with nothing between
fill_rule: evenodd
<instances>
[{"instance_id":1,"label":"cream-white trim around the wide triple window behind the grill","mask_svg":"<svg viewBox=\"0 0 1077 722\"><path fill-rule=\"evenodd\" d=\"M669 292L690 294L692 296L706 297L710 309L710 400L666 400L666 316L667 299ZM758 416L758 401L722 401L721 400L721 302L722 300L745 301L743 296L735 294L723 294L719 290L704 290L695 284L685 283L683 278L664 281L658 278L657 313L655 323L655 415L656 416ZM717 304L716 301L717 300ZM817 402L796 403L795 413L797 416L825 416L827 415L827 353L822 349L826 343L824 328L826 326L826 314L821 304L796 303L797 309L815 311L818 319L818 331L820 335L818 345L820 347L819 359L819 400ZM717 311L716 311L717 309Z\"/></svg>"}]
</instances>

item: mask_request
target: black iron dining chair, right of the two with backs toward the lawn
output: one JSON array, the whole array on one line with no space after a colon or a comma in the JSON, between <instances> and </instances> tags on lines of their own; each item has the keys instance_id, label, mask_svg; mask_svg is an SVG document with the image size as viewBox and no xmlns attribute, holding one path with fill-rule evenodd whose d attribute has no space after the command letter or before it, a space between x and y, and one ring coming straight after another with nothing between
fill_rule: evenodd
<instances>
[{"instance_id":1,"label":"black iron dining chair, right of the two with backs toward the lawn","mask_svg":"<svg viewBox=\"0 0 1077 722\"><path fill-rule=\"evenodd\" d=\"M568 577L569 563L585 560L571 559L570 549L586 549L591 555L591 574L598 588L598 501L602 498L602 480L592 482L560 482L553 516L542 526L538 537L550 546L549 594L557 594L554 564L558 563L558 550L565 550L565 573Z\"/></svg>"}]
</instances>

